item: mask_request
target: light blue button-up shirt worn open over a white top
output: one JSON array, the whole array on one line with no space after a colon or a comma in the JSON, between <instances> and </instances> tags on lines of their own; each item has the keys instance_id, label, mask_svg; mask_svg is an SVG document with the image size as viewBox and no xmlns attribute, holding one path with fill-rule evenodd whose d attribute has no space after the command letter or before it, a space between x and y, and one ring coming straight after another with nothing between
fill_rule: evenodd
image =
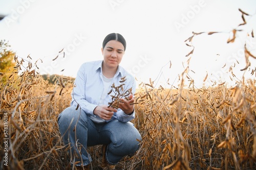
<instances>
[{"instance_id":1,"label":"light blue button-up shirt worn open over a white top","mask_svg":"<svg viewBox=\"0 0 256 170\"><path fill-rule=\"evenodd\" d=\"M103 74L102 74L102 60L101 61L91 61L83 63L78 72L74 83L74 88L71 93L72 101L71 106L79 106L81 109L86 112L89 117L96 117L93 114L93 110L99 105L100 98L103 92ZM125 77L125 84L123 86L124 90L127 90L132 87L133 94L136 91L136 81L135 78L129 74L123 67L120 65L116 71L115 76L111 82L111 85L115 83L115 86L120 85L119 82L122 77ZM110 86L111 86L110 85ZM111 87L109 87L109 90ZM114 92L111 94L106 94L105 100L103 101L104 105L109 105L109 102L112 102L112 97L110 95L115 95ZM114 112L114 115L111 119L117 119L120 122L129 122L135 118L135 111L131 115L125 114L120 108L117 109L117 112Z\"/></svg>"}]
</instances>

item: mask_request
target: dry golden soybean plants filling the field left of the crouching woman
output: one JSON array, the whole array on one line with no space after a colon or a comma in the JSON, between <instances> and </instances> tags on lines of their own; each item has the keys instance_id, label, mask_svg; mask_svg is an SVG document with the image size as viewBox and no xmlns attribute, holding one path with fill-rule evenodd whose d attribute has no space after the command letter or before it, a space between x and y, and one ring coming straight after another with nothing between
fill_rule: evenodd
<instances>
[{"instance_id":1,"label":"dry golden soybean plants filling the field left of the crouching woman","mask_svg":"<svg viewBox=\"0 0 256 170\"><path fill-rule=\"evenodd\" d=\"M15 58L15 61L17 65L25 65L20 64L23 60ZM68 158L61 143L57 116L70 104L68 96L72 84L67 83L60 94L59 85L50 86L30 67L32 65L28 63L22 75L6 75L8 82L1 86L1 119L8 116L8 137L4 136L4 123L1 121L1 141L9 139L8 168L63 169L67 165L63 160ZM3 155L2 148L1 159Z\"/></svg>"}]
</instances>

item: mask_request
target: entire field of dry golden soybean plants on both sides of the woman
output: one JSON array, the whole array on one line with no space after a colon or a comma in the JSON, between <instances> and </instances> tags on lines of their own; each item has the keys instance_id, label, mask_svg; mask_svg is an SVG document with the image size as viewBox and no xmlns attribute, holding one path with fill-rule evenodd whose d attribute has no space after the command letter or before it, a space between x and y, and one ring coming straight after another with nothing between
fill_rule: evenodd
<instances>
[{"instance_id":1,"label":"entire field of dry golden soybean plants on both sides of the woman","mask_svg":"<svg viewBox=\"0 0 256 170\"><path fill-rule=\"evenodd\" d=\"M22 62L15 58L17 65ZM25 63L25 62L24 62ZM23 63L23 65L25 65ZM54 85L36 74L32 64L22 75L8 76L1 86L1 136L9 139L5 169L71 169L71 158L58 131L58 114L69 106L73 82ZM16 67L19 70L20 67ZM185 71L184 71L185 72ZM182 74L183 76L183 74ZM183 76L185 77L185 76ZM120 169L254 169L256 167L256 82L227 88L153 88L140 84L133 122L142 135L141 147L125 157ZM4 119L8 116L8 136ZM92 167L101 161L100 146L89 148Z\"/></svg>"}]
</instances>

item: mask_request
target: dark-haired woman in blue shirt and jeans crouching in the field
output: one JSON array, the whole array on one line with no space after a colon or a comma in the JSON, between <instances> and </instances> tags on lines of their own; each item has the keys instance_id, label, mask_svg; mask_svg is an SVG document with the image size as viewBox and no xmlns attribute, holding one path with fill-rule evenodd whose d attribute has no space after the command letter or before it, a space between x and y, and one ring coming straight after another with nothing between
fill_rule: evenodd
<instances>
[{"instance_id":1,"label":"dark-haired woman in blue shirt and jeans crouching in the field","mask_svg":"<svg viewBox=\"0 0 256 170\"><path fill-rule=\"evenodd\" d=\"M65 144L71 145L71 157L75 155L75 162L79 162L77 168L89 169L92 159L86 149L90 146L103 145L101 166L104 169L115 169L119 160L139 149L137 139L141 140L141 136L130 123L135 118L134 105L131 105L133 95L120 98L118 108L109 107L115 95L115 90L109 93L112 85L123 84L123 90L131 88L133 94L136 90L134 77L119 65L125 48L122 35L107 35L101 48L103 60L81 65L71 107L59 114L59 130Z\"/></svg>"}]
</instances>

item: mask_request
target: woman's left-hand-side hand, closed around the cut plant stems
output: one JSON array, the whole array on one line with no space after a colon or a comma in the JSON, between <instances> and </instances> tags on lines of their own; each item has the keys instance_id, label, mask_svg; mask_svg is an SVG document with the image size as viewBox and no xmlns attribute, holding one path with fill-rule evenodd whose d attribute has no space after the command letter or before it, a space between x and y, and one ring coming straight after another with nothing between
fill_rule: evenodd
<instances>
[{"instance_id":1,"label":"woman's left-hand-side hand, closed around the cut plant stems","mask_svg":"<svg viewBox=\"0 0 256 170\"><path fill-rule=\"evenodd\" d=\"M110 120L111 117L114 115L114 112L117 112L117 110L112 107L103 105L97 106L94 109L93 114L98 115L100 118L103 118L105 120Z\"/></svg>"}]
</instances>

